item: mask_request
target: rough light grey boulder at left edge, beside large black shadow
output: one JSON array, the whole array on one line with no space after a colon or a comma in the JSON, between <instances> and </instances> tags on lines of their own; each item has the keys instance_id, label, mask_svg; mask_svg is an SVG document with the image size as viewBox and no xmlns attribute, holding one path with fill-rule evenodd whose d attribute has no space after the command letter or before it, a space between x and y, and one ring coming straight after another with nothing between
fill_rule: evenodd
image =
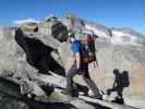
<instances>
[{"instance_id":1,"label":"rough light grey boulder at left edge, beside large black shadow","mask_svg":"<svg viewBox=\"0 0 145 109\"><path fill-rule=\"evenodd\" d=\"M10 28L4 28L3 35ZM35 72L25 61L23 49L14 40L14 34L1 36L0 38L0 75L28 77L31 72Z\"/></svg>"}]
</instances>

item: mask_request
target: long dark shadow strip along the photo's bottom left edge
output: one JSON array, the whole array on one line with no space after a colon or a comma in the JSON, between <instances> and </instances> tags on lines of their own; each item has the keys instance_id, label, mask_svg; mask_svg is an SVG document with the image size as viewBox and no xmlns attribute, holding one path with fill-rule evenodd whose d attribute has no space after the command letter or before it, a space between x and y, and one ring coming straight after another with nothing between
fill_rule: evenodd
<instances>
[{"instance_id":1,"label":"long dark shadow strip along the photo's bottom left edge","mask_svg":"<svg viewBox=\"0 0 145 109\"><path fill-rule=\"evenodd\" d=\"M16 97L13 95L9 95L7 93L3 93L3 97L7 98L10 101L13 101L12 106L9 102L4 102L5 107L11 107L11 109L17 109L17 101L22 102L22 105L25 104L27 108L19 108L19 109L77 109L73 105L64 104L64 102L44 102L44 101L37 101L31 98L26 97ZM21 105L21 104L20 104ZM3 109L5 109L3 107Z\"/></svg>"}]
</instances>

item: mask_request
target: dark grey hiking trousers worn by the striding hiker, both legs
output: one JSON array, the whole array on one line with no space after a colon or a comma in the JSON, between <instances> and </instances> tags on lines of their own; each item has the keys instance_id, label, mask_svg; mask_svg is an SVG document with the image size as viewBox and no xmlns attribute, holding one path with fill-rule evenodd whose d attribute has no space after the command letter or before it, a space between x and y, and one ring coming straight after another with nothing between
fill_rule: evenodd
<instances>
[{"instance_id":1,"label":"dark grey hiking trousers worn by the striding hiker, both legs","mask_svg":"<svg viewBox=\"0 0 145 109\"><path fill-rule=\"evenodd\" d=\"M70 71L67 74L67 92L70 93L70 95L73 95L73 77L75 74L78 74L80 72L82 72L81 74L83 75L84 81L86 82L86 84L88 85L88 87L93 90L95 96L99 95L99 90L97 88L97 86L95 85L95 83L93 82L93 80L89 76L88 73L88 64L83 64L81 70L76 69L76 64L74 63Z\"/></svg>"}]
</instances>

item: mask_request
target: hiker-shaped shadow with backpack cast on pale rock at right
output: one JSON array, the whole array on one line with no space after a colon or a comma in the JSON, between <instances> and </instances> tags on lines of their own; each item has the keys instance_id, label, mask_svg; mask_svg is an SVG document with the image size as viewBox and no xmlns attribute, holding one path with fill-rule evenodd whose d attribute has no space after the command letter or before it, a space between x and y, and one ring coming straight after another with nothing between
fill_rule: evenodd
<instances>
[{"instance_id":1,"label":"hiker-shaped shadow with backpack cast on pale rock at right","mask_svg":"<svg viewBox=\"0 0 145 109\"><path fill-rule=\"evenodd\" d=\"M117 104L124 104L123 99L123 89L124 87L129 87L130 80L129 80L129 71L120 72L118 69L113 70L113 74L116 76L112 88L107 90L107 94L110 95L112 92L117 92L118 96L113 100Z\"/></svg>"}]
</instances>

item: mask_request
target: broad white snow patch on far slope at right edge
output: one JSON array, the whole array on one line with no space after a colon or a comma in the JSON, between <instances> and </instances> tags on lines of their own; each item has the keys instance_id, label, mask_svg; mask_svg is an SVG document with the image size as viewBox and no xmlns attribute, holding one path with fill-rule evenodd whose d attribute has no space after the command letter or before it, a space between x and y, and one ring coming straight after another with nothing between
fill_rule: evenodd
<instances>
[{"instance_id":1,"label":"broad white snow patch on far slope at right edge","mask_svg":"<svg viewBox=\"0 0 145 109\"><path fill-rule=\"evenodd\" d=\"M111 29L111 35L110 41L114 45L142 46L145 41L145 36L131 28Z\"/></svg>"}]
</instances>

